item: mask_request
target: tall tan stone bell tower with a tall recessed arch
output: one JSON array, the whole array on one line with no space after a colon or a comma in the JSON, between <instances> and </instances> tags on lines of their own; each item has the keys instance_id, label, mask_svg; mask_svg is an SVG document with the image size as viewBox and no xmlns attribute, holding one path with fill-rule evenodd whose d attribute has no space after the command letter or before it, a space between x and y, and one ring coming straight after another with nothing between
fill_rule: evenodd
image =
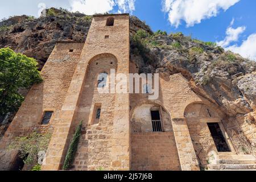
<instances>
[{"instance_id":1,"label":"tall tan stone bell tower with a tall recessed arch","mask_svg":"<svg viewBox=\"0 0 256 182\"><path fill-rule=\"evenodd\" d=\"M42 166L43 170L62 169L69 143L80 121L83 121L84 133L87 130L93 131L95 127L95 130L100 130L97 131L98 135L109 137L103 139L103 143L110 147L105 153L99 154L107 155L109 163L98 163L105 163L102 165L111 170L130 169L129 93L102 96L96 92L97 86L94 82L97 81L96 77L100 71L110 72L111 68L115 68L115 74L123 73L128 76L129 57L129 14L94 15L64 104L60 114L54 118L56 126ZM101 106L102 112L100 121L95 126L91 122L94 117L94 105L97 108ZM112 109L108 111L110 106ZM113 114L104 114L109 112ZM106 128L108 133L102 128ZM80 140L88 139L88 136L84 135ZM95 145L96 148L101 145L101 141L94 143L94 148ZM79 152L82 154L88 152L84 148L91 147L84 146L82 141L79 145ZM101 148L103 146L102 144ZM86 163L82 157L77 160Z\"/></svg>"}]
</instances>

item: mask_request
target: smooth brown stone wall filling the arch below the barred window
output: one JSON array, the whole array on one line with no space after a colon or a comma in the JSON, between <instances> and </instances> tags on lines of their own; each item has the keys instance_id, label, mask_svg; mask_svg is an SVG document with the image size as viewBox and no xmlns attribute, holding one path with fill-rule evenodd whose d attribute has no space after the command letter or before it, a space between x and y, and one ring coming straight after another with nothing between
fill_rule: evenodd
<instances>
[{"instance_id":1,"label":"smooth brown stone wall filling the arch below the barred window","mask_svg":"<svg viewBox=\"0 0 256 182\"><path fill-rule=\"evenodd\" d=\"M131 170L180 170L173 132L131 134L131 154Z\"/></svg>"}]
</instances>

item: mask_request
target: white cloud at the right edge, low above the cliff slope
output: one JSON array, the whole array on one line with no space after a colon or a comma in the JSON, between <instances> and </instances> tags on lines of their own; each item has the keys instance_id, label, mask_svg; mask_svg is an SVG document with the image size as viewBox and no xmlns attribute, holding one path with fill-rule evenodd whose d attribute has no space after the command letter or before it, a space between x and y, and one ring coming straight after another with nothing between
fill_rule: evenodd
<instances>
[{"instance_id":1,"label":"white cloud at the right edge, low above the cliff slope","mask_svg":"<svg viewBox=\"0 0 256 182\"><path fill-rule=\"evenodd\" d=\"M247 40L244 40L241 46L229 46L226 49L239 53L243 57L256 61L256 34L251 34Z\"/></svg>"}]
</instances>

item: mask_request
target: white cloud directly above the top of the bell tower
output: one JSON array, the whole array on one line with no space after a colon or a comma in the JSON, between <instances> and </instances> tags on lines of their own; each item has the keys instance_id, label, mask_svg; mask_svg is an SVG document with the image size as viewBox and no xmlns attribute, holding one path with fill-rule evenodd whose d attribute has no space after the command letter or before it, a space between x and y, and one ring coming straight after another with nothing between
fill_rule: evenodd
<instances>
[{"instance_id":1,"label":"white cloud directly above the top of the bell tower","mask_svg":"<svg viewBox=\"0 0 256 182\"><path fill-rule=\"evenodd\" d=\"M118 13L132 13L135 0L69 0L71 11L79 11L87 15L106 13L118 7Z\"/></svg>"}]
</instances>

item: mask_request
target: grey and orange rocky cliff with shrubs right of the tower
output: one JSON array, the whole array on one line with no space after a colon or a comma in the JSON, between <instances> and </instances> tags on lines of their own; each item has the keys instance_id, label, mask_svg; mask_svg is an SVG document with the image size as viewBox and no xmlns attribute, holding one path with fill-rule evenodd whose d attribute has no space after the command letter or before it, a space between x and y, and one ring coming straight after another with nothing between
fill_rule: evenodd
<instances>
[{"instance_id":1,"label":"grey and orange rocky cliff with shrubs right of the tower","mask_svg":"<svg viewBox=\"0 0 256 182\"><path fill-rule=\"evenodd\" d=\"M131 42L131 61L140 72L182 73L194 92L229 117L255 110L255 61L181 33L147 33Z\"/></svg>"}]
</instances>

